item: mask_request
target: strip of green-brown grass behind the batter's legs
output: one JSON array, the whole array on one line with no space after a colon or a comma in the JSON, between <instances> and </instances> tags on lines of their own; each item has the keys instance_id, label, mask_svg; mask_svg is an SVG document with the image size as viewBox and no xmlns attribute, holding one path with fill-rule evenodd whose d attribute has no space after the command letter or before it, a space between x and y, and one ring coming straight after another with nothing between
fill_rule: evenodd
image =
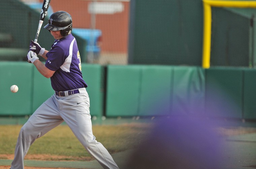
<instances>
[{"instance_id":1,"label":"strip of green-brown grass behind the batter's legs","mask_svg":"<svg viewBox=\"0 0 256 169\"><path fill-rule=\"evenodd\" d=\"M13 154L21 125L0 125L0 154ZM95 125L93 134L109 153L135 148L149 132L149 125ZM60 125L38 138L28 154L91 157L67 125ZM68 160L68 159L66 159Z\"/></svg>"}]
</instances>

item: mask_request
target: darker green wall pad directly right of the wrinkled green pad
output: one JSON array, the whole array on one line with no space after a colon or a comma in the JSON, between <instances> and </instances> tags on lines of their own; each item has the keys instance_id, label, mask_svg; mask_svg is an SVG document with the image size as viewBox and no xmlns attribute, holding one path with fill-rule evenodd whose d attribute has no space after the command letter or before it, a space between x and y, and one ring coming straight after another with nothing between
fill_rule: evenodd
<instances>
[{"instance_id":1,"label":"darker green wall pad directly right of the wrinkled green pad","mask_svg":"<svg viewBox=\"0 0 256 169\"><path fill-rule=\"evenodd\" d=\"M211 117L243 117L243 69L206 69L205 112Z\"/></svg>"}]
</instances>

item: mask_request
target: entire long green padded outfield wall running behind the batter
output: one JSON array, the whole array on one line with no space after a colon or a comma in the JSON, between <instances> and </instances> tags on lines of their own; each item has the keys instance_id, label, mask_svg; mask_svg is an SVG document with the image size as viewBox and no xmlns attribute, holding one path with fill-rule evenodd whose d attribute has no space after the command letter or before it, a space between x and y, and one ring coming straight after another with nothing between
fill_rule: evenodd
<instances>
[{"instance_id":1,"label":"entire long green padded outfield wall running behind the batter","mask_svg":"<svg viewBox=\"0 0 256 169\"><path fill-rule=\"evenodd\" d=\"M195 114L256 119L256 69L82 64L91 115L157 116ZM0 116L31 115L54 91L50 79L27 62L0 62ZM10 92L17 84L19 91ZM204 112L204 113L203 113Z\"/></svg>"}]
</instances>

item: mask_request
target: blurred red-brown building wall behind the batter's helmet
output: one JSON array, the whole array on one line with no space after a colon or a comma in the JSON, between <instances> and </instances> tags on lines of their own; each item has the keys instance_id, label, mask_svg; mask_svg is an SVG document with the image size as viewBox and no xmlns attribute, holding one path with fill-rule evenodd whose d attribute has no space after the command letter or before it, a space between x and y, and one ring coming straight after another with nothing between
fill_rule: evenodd
<instances>
[{"instance_id":1,"label":"blurred red-brown building wall behind the batter's helmet","mask_svg":"<svg viewBox=\"0 0 256 169\"><path fill-rule=\"evenodd\" d=\"M42 2L43 0L40 0ZM94 4L93 4L94 3ZM54 12L63 10L71 14L73 27L92 28L102 31L101 52L127 54L129 28L129 0L89 1L52 0ZM94 5L94 6L92 6ZM95 17L90 10L95 9ZM101 9L100 9L101 8ZM93 21L95 19L95 24Z\"/></svg>"}]
</instances>

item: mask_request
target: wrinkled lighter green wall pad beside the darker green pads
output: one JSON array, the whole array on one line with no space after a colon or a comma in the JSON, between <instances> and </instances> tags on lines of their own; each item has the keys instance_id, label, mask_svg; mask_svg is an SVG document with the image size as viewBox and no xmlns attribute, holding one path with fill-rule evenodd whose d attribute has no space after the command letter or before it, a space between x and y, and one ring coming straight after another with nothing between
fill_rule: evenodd
<instances>
[{"instance_id":1,"label":"wrinkled lighter green wall pad beside the darker green pads","mask_svg":"<svg viewBox=\"0 0 256 169\"><path fill-rule=\"evenodd\" d=\"M202 115L205 99L205 70L195 66L173 67L172 112Z\"/></svg>"}]
</instances>

